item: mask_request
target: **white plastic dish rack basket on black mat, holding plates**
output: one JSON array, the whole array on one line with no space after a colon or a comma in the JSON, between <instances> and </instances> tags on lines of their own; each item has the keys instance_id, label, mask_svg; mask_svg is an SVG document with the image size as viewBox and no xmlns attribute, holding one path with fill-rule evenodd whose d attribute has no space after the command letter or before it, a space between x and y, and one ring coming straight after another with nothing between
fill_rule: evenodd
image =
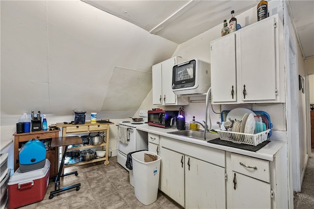
<instances>
[{"instance_id":1,"label":"white plastic dish rack basket on black mat, holding plates","mask_svg":"<svg viewBox=\"0 0 314 209\"><path fill-rule=\"evenodd\" d=\"M219 138L222 140L257 146L258 144L267 140L270 129L266 129L265 131L262 131L257 134L245 134L232 131L222 131L221 129L216 129L215 131L218 132Z\"/></svg>"}]
</instances>

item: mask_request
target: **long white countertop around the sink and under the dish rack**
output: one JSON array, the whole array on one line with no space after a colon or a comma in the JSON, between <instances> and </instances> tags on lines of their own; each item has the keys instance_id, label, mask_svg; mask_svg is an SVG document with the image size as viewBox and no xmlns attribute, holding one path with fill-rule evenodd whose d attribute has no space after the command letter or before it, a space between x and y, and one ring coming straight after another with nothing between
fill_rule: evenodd
<instances>
[{"instance_id":1,"label":"long white countertop around the sink and under the dish rack","mask_svg":"<svg viewBox=\"0 0 314 209\"><path fill-rule=\"evenodd\" d=\"M247 155L250 157L255 157L255 158L259 158L259 159L263 159L263 160L267 160L267 161L273 161L274 155L286 143L286 141L272 140L271 139L271 141L268 144L266 144L264 147L262 147L259 151L252 152L252 151L247 151L247 150L238 149L238 148L234 148L234 147L209 143L209 142L207 142L205 140L201 140L201 139L193 139L193 138L189 138L189 137L183 137L183 136L178 136L178 135L174 135L174 134L169 134L170 132L178 131L177 129L166 129L166 128L159 128L159 127L149 126L149 125L142 125L142 126L136 127L136 129L140 130L140 131L152 133L152 134L157 134L157 135L164 136L164 137L169 137L172 139L178 139L178 140L182 140L182 141L186 141L186 142L191 142L191 143L195 143L195 144L199 144L199 145L203 145L203 146L208 146L208 147L212 147L212 148L216 148L216 149L221 149L221 150L225 150L228 152L233 152L233 153L237 153L237 154L241 154L241 155ZM219 136L217 135L217 138L218 137Z\"/></svg>"}]
</instances>

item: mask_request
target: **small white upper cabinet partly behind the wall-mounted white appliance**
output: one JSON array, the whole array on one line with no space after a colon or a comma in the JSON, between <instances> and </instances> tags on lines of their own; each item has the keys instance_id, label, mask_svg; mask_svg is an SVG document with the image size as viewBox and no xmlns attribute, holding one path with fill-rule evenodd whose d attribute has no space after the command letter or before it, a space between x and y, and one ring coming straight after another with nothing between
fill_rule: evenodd
<instances>
[{"instance_id":1,"label":"small white upper cabinet partly behind the wall-mounted white appliance","mask_svg":"<svg viewBox=\"0 0 314 209\"><path fill-rule=\"evenodd\" d=\"M172 91L172 68L184 62L181 57L172 57L153 65L153 105L187 105L188 102Z\"/></svg>"}]
</instances>

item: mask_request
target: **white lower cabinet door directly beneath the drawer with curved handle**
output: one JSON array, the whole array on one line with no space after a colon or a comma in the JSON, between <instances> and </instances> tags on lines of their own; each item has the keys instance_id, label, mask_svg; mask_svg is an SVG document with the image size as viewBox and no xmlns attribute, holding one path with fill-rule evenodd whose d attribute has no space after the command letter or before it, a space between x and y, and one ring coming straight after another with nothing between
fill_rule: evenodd
<instances>
[{"instance_id":1,"label":"white lower cabinet door directly beneath the drawer with curved handle","mask_svg":"<svg viewBox=\"0 0 314 209\"><path fill-rule=\"evenodd\" d=\"M227 175L228 209L271 208L271 189L269 183L233 171L227 171Z\"/></svg>"}]
</instances>

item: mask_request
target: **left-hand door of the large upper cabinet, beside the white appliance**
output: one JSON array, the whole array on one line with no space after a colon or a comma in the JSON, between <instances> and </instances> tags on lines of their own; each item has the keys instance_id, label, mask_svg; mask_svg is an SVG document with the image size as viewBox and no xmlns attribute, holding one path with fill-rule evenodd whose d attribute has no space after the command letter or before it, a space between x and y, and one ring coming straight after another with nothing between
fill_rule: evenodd
<instances>
[{"instance_id":1,"label":"left-hand door of the large upper cabinet, beside the white appliance","mask_svg":"<svg viewBox=\"0 0 314 209\"><path fill-rule=\"evenodd\" d=\"M211 101L236 101L235 33L211 42L210 69Z\"/></svg>"}]
</instances>

